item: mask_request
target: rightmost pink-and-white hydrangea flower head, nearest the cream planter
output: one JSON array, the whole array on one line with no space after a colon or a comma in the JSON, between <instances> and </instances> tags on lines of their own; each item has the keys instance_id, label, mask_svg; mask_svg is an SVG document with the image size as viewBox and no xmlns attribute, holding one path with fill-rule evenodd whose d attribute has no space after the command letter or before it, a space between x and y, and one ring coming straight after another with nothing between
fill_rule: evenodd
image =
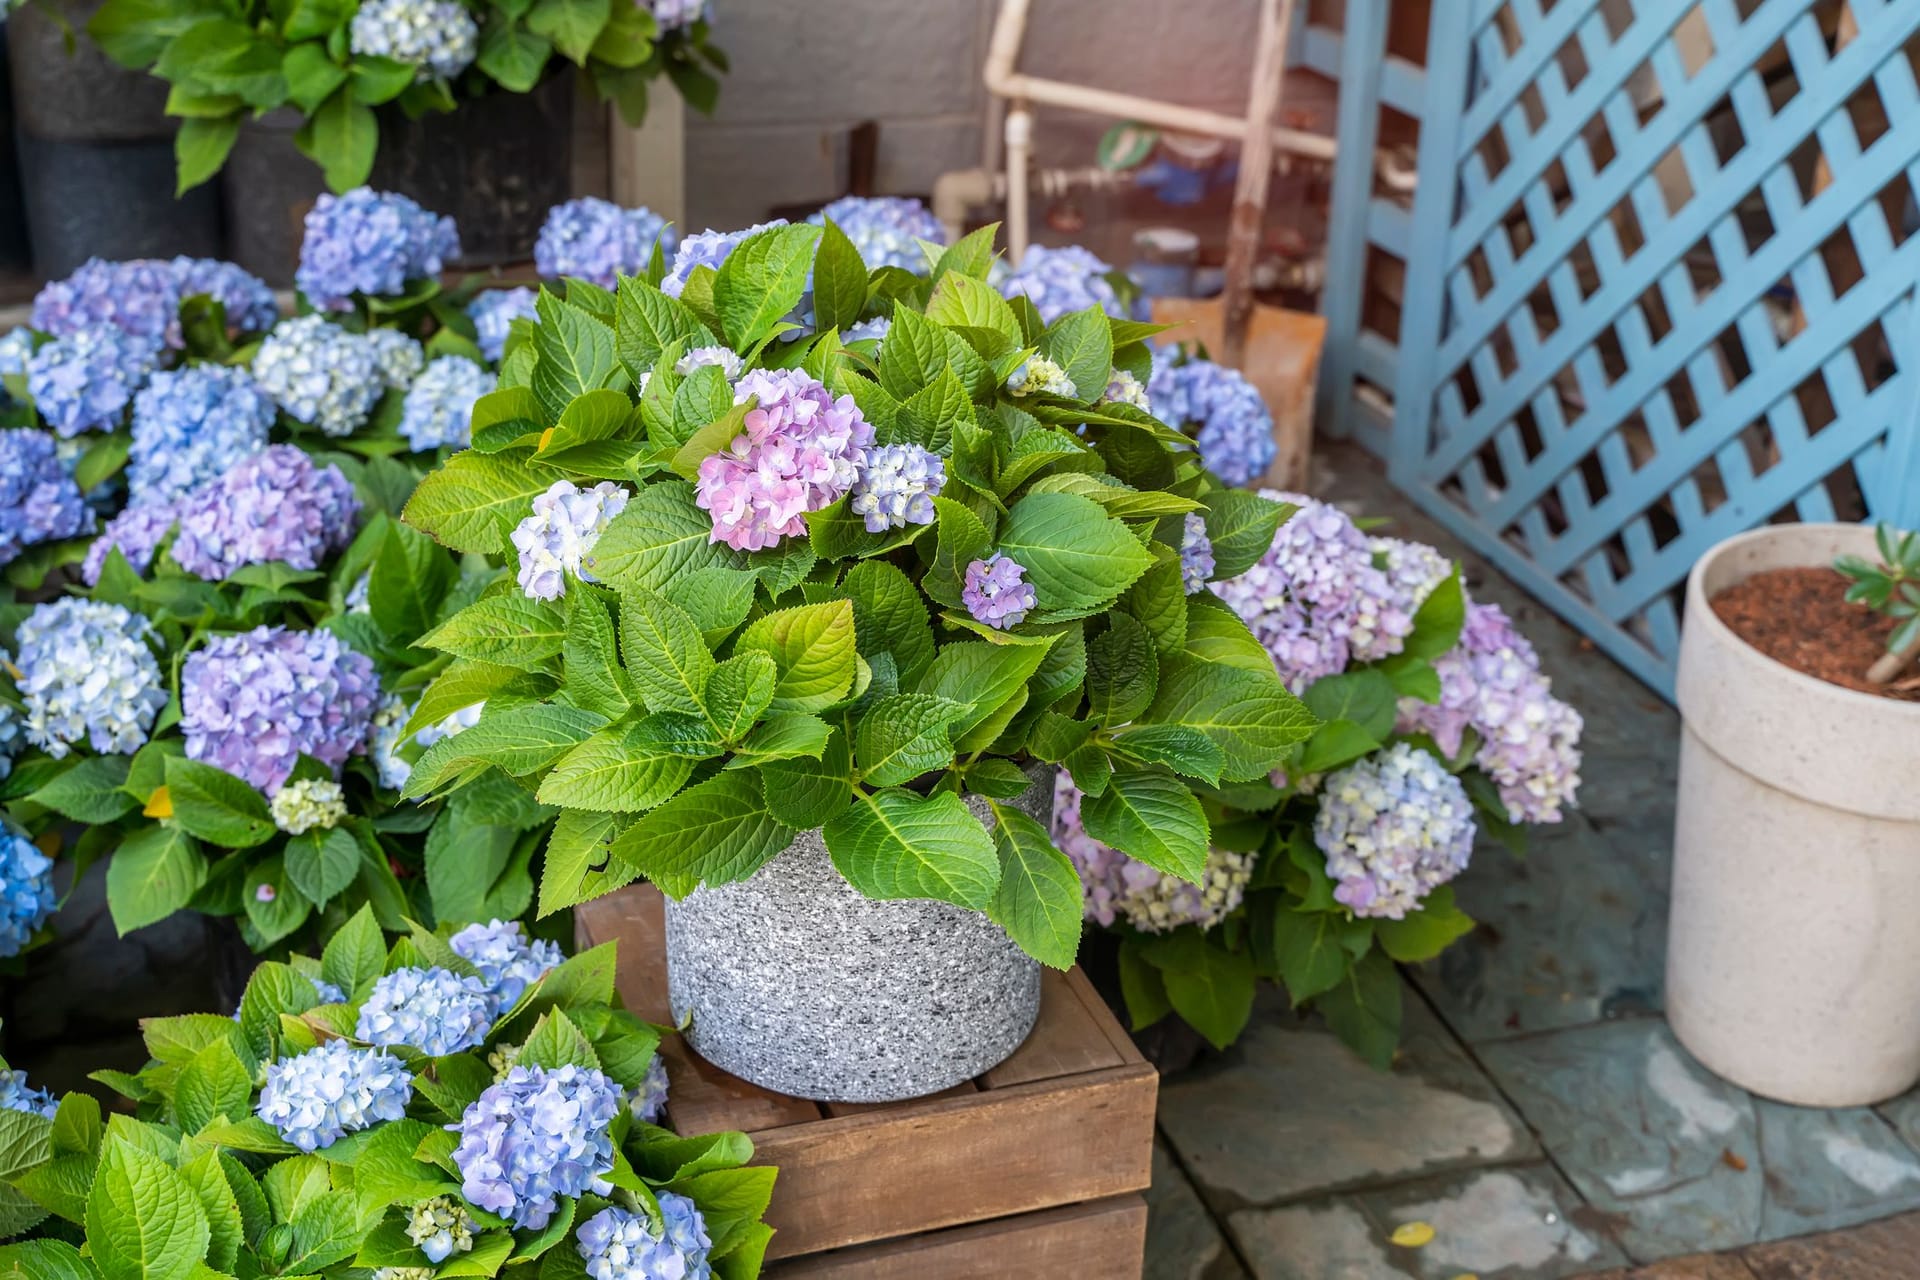
<instances>
[{"instance_id":1,"label":"rightmost pink-and-white hydrangea flower head, nearest the cream planter","mask_svg":"<svg viewBox=\"0 0 1920 1280\"><path fill-rule=\"evenodd\" d=\"M1513 821L1559 821L1580 787L1580 712L1553 697L1540 654L1498 604L1467 604L1459 645L1434 660L1440 700L1400 700L1400 731L1432 735L1457 754L1467 729L1473 762L1500 787Z\"/></svg>"}]
</instances>

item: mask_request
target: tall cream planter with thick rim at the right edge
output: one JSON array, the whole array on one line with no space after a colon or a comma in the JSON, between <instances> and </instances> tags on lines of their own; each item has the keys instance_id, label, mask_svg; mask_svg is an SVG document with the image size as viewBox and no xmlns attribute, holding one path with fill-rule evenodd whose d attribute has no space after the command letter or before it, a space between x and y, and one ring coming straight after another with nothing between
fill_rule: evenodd
<instances>
[{"instance_id":1,"label":"tall cream planter with thick rim at the right edge","mask_svg":"<svg viewBox=\"0 0 1920 1280\"><path fill-rule=\"evenodd\" d=\"M1872 558L1872 530L1770 526L1709 551L1678 677L1667 1017L1718 1075L1816 1107L1920 1080L1920 704L1774 662L1707 601L1841 553Z\"/></svg>"}]
</instances>

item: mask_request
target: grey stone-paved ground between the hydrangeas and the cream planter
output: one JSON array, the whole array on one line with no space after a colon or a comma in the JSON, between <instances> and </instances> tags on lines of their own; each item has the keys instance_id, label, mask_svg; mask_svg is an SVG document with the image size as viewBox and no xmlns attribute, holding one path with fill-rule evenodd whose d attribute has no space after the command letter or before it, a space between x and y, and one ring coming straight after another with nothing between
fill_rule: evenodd
<instances>
[{"instance_id":1,"label":"grey stone-paved ground between the hydrangeas and the cream planter","mask_svg":"<svg viewBox=\"0 0 1920 1280\"><path fill-rule=\"evenodd\" d=\"M1405 975L1392 1075L1275 992L1233 1052L1164 1082L1148 1276L1920 1274L1920 1219L1862 1234L1864 1257L1901 1259L1880 1270L1836 1268L1845 1242L1764 1245L1920 1207L1920 1094L1764 1102L1693 1063L1659 1015L1672 708L1463 555L1363 453L1329 449L1317 491L1459 557L1469 591L1521 622L1586 716L1582 810L1524 860L1476 852L1459 902L1484 923ZM1432 1242L1392 1245L1411 1221Z\"/></svg>"}]
</instances>

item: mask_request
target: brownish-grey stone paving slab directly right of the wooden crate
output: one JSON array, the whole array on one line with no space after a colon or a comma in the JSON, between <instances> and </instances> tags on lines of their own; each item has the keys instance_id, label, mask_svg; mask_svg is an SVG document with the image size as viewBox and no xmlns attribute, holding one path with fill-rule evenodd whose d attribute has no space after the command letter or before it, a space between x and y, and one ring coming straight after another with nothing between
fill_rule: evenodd
<instances>
[{"instance_id":1,"label":"brownish-grey stone paving slab directly right of the wooden crate","mask_svg":"<svg viewBox=\"0 0 1920 1280\"><path fill-rule=\"evenodd\" d=\"M1392 1073L1265 996L1233 1050L1160 1086L1160 1126L1215 1213L1540 1150L1413 992Z\"/></svg>"}]
</instances>

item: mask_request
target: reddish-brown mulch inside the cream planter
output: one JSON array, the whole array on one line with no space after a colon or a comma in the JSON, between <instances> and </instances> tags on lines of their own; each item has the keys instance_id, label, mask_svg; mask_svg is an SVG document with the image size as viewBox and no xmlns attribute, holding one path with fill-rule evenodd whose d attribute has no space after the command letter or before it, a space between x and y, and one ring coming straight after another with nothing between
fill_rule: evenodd
<instances>
[{"instance_id":1,"label":"reddish-brown mulch inside the cream planter","mask_svg":"<svg viewBox=\"0 0 1920 1280\"><path fill-rule=\"evenodd\" d=\"M1713 612L1774 662L1830 685L1920 700L1920 668L1891 685L1866 683L1887 651L1893 620L1847 603L1847 580L1830 568L1774 568L1713 597Z\"/></svg>"}]
</instances>

